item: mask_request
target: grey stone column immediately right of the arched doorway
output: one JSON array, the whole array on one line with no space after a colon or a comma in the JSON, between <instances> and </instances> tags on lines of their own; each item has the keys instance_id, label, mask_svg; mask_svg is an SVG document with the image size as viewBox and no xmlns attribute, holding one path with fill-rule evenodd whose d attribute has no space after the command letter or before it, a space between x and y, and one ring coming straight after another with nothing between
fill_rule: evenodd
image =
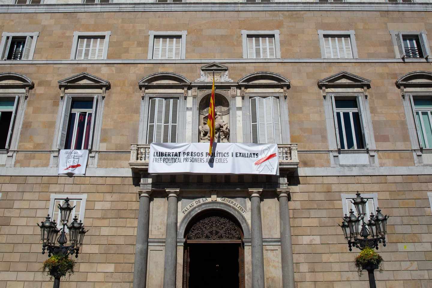
<instances>
[{"instance_id":1,"label":"grey stone column immediately right of the arched doorway","mask_svg":"<svg viewBox=\"0 0 432 288\"><path fill-rule=\"evenodd\" d=\"M261 223L262 189L249 189L251 194L252 288L264 287L263 228Z\"/></svg>"}]
</instances>

